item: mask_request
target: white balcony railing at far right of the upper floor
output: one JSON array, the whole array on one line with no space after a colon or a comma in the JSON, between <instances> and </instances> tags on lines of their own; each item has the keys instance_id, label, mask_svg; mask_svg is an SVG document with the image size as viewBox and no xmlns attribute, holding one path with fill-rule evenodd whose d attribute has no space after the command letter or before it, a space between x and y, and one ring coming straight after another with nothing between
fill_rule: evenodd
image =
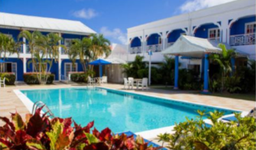
<instances>
[{"instance_id":1,"label":"white balcony railing at far right of the upper floor","mask_svg":"<svg viewBox=\"0 0 256 150\"><path fill-rule=\"evenodd\" d=\"M253 45L255 44L255 33L252 34L238 34L230 36L230 45Z\"/></svg>"}]
</instances>

